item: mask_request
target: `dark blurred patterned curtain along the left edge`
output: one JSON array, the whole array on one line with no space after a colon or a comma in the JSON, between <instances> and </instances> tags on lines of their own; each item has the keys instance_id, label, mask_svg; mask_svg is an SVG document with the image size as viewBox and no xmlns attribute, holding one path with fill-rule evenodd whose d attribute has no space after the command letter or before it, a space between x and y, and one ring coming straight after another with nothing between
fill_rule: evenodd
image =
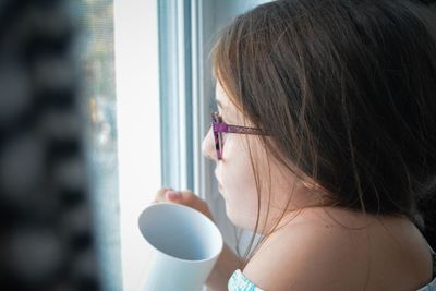
<instances>
[{"instance_id":1,"label":"dark blurred patterned curtain along the left edge","mask_svg":"<svg viewBox=\"0 0 436 291\"><path fill-rule=\"evenodd\" d=\"M69 12L0 3L0 290L100 289Z\"/></svg>"}]
</instances>

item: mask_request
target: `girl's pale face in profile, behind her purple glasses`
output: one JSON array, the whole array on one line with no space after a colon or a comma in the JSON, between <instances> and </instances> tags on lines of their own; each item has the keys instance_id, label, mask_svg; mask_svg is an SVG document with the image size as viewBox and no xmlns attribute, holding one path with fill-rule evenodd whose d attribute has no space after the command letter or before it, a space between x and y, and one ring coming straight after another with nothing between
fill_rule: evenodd
<instances>
[{"instance_id":1,"label":"girl's pale face in profile, behind her purple glasses","mask_svg":"<svg viewBox=\"0 0 436 291\"><path fill-rule=\"evenodd\" d=\"M253 126L250 123L246 124L246 120L244 123L242 112L230 101L218 82L216 99L223 122L233 125ZM249 147L252 157L250 156ZM258 136L227 133L225 134L222 148L222 159L218 160L213 132L209 130L203 141L203 153L206 157L216 161L215 175L218 180L219 192L226 201L226 211L229 219L239 227L254 229L257 217L257 190L252 168L253 160L258 172L261 186L261 228L265 222L268 196L269 194L271 195L267 222L268 229L283 211L292 187L296 185L295 177L286 171L274 158L269 158L268 165L267 154L258 141ZM269 181L270 189L268 187ZM299 204L299 195L295 195L298 192L301 191L295 187L290 207Z\"/></svg>"}]
</instances>

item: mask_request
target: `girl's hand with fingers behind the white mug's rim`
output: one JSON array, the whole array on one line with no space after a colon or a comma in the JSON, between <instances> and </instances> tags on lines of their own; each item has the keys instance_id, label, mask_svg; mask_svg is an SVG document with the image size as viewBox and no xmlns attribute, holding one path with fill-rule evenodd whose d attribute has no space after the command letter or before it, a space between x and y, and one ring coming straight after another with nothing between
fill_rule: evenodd
<instances>
[{"instance_id":1,"label":"girl's hand with fingers behind the white mug's rim","mask_svg":"<svg viewBox=\"0 0 436 291\"><path fill-rule=\"evenodd\" d=\"M201 211L214 221L207 203L190 191L174 191L170 187L162 187L156 193L155 202L182 204Z\"/></svg>"}]
</instances>

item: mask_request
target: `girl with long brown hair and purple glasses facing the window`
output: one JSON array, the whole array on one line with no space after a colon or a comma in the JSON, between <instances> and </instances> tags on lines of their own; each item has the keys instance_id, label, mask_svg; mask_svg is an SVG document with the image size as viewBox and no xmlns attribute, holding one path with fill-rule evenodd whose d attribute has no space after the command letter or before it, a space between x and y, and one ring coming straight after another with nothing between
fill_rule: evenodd
<instances>
[{"instance_id":1,"label":"girl with long brown hair and purple glasses facing the window","mask_svg":"<svg viewBox=\"0 0 436 291\"><path fill-rule=\"evenodd\" d=\"M204 155L230 220L263 239L246 259L225 247L210 290L436 290L421 232L436 185L431 17L411 0L283 0L221 32ZM157 199L211 218L191 192Z\"/></svg>"}]
</instances>

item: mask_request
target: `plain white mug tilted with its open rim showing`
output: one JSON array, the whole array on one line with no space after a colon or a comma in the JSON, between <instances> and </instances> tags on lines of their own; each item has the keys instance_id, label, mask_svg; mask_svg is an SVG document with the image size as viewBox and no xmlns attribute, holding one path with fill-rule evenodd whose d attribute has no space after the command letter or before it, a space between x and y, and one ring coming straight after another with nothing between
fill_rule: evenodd
<instances>
[{"instance_id":1,"label":"plain white mug tilted with its open rim showing","mask_svg":"<svg viewBox=\"0 0 436 291\"><path fill-rule=\"evenodd\" d=\"M142 290L199 290L222 250L215 223L193 208L172 203L148 206L138 223L153 248Z\"/></svg>"}]
</instances>

